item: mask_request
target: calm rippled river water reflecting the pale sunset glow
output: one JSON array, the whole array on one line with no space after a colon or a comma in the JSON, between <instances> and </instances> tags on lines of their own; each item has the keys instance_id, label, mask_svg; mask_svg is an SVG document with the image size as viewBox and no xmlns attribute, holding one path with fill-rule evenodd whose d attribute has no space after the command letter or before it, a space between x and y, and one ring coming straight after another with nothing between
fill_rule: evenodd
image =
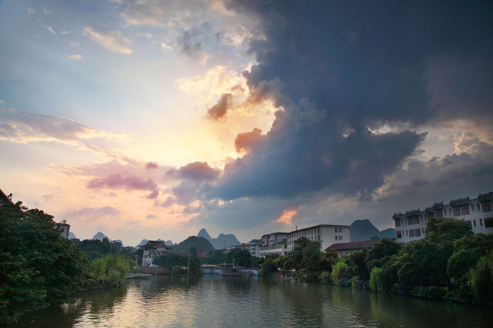
<instances>
[{"instance_id":1,"label":"calm rippled river water reflecting the pale sunset glow","mask_svg":"<svg viewBox=\"0 0 493 328\"><path fill-rule=\"evenodd\" d=\"M492 327L489 308L262 277L153 276L16 327Z\"/></svg>"}]
</instances>

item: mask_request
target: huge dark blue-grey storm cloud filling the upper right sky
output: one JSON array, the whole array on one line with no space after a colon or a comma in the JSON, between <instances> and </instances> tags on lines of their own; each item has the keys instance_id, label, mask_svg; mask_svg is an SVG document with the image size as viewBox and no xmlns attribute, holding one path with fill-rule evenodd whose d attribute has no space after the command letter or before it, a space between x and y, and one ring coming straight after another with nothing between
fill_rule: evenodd
<instances>
[{"instance_id":1,"label":"huge dark blue-grey storm cloud filling the upper right sky","mask_svg":"<svg viewBox=\"0 0 493 328\"><path fill-rule=\"evenodd\" d=\"M243 73L249 101L273 100L283 110L265 141L225 166L209 197L293 197L330 189L369 199L426 135L369 128L413 129L439 120L440 104L430 105L430 63L451 52L464 61L491 53L485 45L492 39L485 15L491 8L483 2L233 1L229 9L263 22L265 38L248 49L258 64ZM461 83L467 71L457 74Z\"/></svg>"}]
</instances>

